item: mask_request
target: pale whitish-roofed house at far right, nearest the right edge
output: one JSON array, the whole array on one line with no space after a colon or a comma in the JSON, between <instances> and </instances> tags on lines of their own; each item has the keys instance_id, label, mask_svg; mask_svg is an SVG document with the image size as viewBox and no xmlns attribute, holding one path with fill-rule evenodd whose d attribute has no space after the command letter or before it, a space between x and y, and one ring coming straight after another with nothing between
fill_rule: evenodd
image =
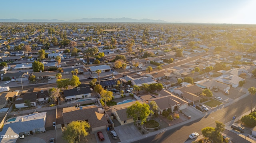
<instances>
[{"instance_id":1,"label":"pale whitish-roofed house at far right, nearest the right edge","mask_svg":"<svg viewBox=\"0 0 256 143\"><path fill-rule=\"evenodd\" d=\"M231 87L236 88L237 86L239 86L240 81L244 81L244 78L241 78L239 76L234 76L234 75L223 74L221 76L214 78L214 80L220 83L228 84Z\"/></svg>"}]
</instances>

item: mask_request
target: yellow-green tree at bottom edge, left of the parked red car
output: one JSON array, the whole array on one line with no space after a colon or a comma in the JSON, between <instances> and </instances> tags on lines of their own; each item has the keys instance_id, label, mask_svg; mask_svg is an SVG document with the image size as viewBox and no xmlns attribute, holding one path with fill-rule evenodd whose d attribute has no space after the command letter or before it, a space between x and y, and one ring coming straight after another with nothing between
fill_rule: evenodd
<instances>
[{"instance_id":1,"label":"yellow-green tree at bottom edge, left of the parked red car","mask_svg":"<svg viewBox=\"0 0 256 143\"><path fill-rule=\"evenodd\" d=\"M90 124L87 121L71 121L67 127L63 128L63 138L68 143L76 143L80 138L89 135Z\"/></svg>"}]
</instances>

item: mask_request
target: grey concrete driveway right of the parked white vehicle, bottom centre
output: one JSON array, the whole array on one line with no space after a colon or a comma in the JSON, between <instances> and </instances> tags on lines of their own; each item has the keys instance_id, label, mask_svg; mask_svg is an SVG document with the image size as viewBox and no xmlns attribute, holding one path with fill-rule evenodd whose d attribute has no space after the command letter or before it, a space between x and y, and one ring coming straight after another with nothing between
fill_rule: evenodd
<instances>
[{"instance_id":1,"label":"grey concrete driveway right of the parked white vehicle, bottom centre","mask_svg":"<svg viewBox=\"0 0 256 143\"><path fill-rule=\"evenodd\" d=\"M132 138L142 136L138 128L135 127L133 123L129 123L127 125L120 125L114 128L116 133L118 134L120 141L126 141Z\"/></svg>"}]
</instances>

